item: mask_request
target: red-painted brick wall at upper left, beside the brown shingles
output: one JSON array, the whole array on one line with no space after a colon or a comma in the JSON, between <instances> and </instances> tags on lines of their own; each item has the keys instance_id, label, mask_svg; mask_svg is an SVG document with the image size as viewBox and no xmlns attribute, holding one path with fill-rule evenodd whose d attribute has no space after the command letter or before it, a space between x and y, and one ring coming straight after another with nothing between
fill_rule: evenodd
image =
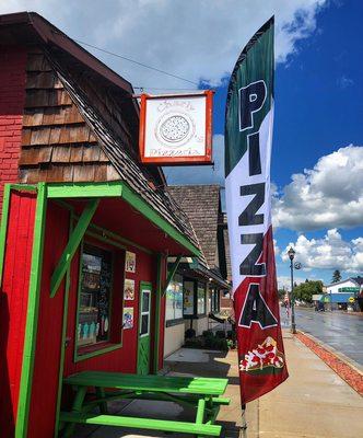
<instances>
[{"instance_id":1,"label":"red-painted brick wall at upper left, beside the brown shingles","mask_svg":"<svg viewBox=\"0 0 363 438\"><path fill-rule=\"evenodd\" d=\"M26 50L0 47L0 215L3 185L17 182L26 82Z\"/></svg>"}]
</instances>

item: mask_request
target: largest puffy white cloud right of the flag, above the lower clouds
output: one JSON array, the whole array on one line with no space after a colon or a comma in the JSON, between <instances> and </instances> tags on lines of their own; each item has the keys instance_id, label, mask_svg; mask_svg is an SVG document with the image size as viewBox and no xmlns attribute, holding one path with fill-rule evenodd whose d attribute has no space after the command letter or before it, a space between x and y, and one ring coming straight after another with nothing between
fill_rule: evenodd
<instances>
[{"instance_id":1,"label":"largest puffy white cloud right of the flag, above the lower clouds","mask_svg":"<svg viewBox=\"0 0 363 438\"><path fill-rule=\"evenodd\" d=\"M358 227L363 221L363 147L321 157L314 169L292 175L273 197L276 227L297 231Z\"/></svg>"}]
</instances>

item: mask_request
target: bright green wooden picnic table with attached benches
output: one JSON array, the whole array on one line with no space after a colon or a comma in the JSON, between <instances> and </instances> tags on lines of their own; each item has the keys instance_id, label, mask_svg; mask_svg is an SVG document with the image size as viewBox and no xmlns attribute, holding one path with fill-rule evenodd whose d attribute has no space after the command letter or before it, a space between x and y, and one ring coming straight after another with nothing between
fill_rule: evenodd
<instances>
[{"instance_id":1,"label":"bright green wooden picnic table with attached benches","mask_svg":"<svg viewBox=\"0 0 363 438\"><path fill-rule=\"evenodd\" d=\"M220 436L222 427L214 422L220 406L230 404L229 399L221 397L227 382L227 379L103 371L72 374L63 379L63 383L71 385L75 392L71 411L60 413L61 425L65 425L63 437L73 434L75 423ZM86 397L90 388L95 389L93 397ZM127 399L169 401L191 406L196 410L196 418L195 422L178 422L108 414L108 401ZM99 408L99 414L92 412L95 407Z\"/></svg>"}]
</instances>

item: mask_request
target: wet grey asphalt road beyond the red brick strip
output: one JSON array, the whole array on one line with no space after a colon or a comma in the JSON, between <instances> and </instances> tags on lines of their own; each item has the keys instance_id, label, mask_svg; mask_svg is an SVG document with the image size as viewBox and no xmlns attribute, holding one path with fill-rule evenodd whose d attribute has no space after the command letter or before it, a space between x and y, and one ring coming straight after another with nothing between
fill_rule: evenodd
<instances>
[{"instance_id":1,"label":"wet grey asphalt road beyond the red brick strip","mask_svg":"<svg viewBox=\"0 0 363 438\"><path fill-rule=\"evenodd\" d=\"M295 310L296 328L308 333L363 366L363 318L341 312ZM284 311L282 326L286 326Z\"/></svg>"}]
</instances>

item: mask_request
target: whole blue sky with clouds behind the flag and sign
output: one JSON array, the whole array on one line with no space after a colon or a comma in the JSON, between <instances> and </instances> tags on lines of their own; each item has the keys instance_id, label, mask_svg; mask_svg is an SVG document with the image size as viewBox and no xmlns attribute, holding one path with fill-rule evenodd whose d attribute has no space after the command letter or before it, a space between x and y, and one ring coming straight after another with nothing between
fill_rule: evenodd
<instances>
[{"instance_id":1,"label":"whole blue sky with clouds behind the flag and sign","mask_svg":"<svg viewBox=\"0 0 363 438\"><path fill-rule=\"evenodd\" d=\"M35 11L150 93L215 90L214 168L165 168L171 184L224 185L224 111L244 45L276 16L271 178L279 286L363 275L363 45L360 0L1 0L0 13Z\"/></svg>"}]
</instances>

